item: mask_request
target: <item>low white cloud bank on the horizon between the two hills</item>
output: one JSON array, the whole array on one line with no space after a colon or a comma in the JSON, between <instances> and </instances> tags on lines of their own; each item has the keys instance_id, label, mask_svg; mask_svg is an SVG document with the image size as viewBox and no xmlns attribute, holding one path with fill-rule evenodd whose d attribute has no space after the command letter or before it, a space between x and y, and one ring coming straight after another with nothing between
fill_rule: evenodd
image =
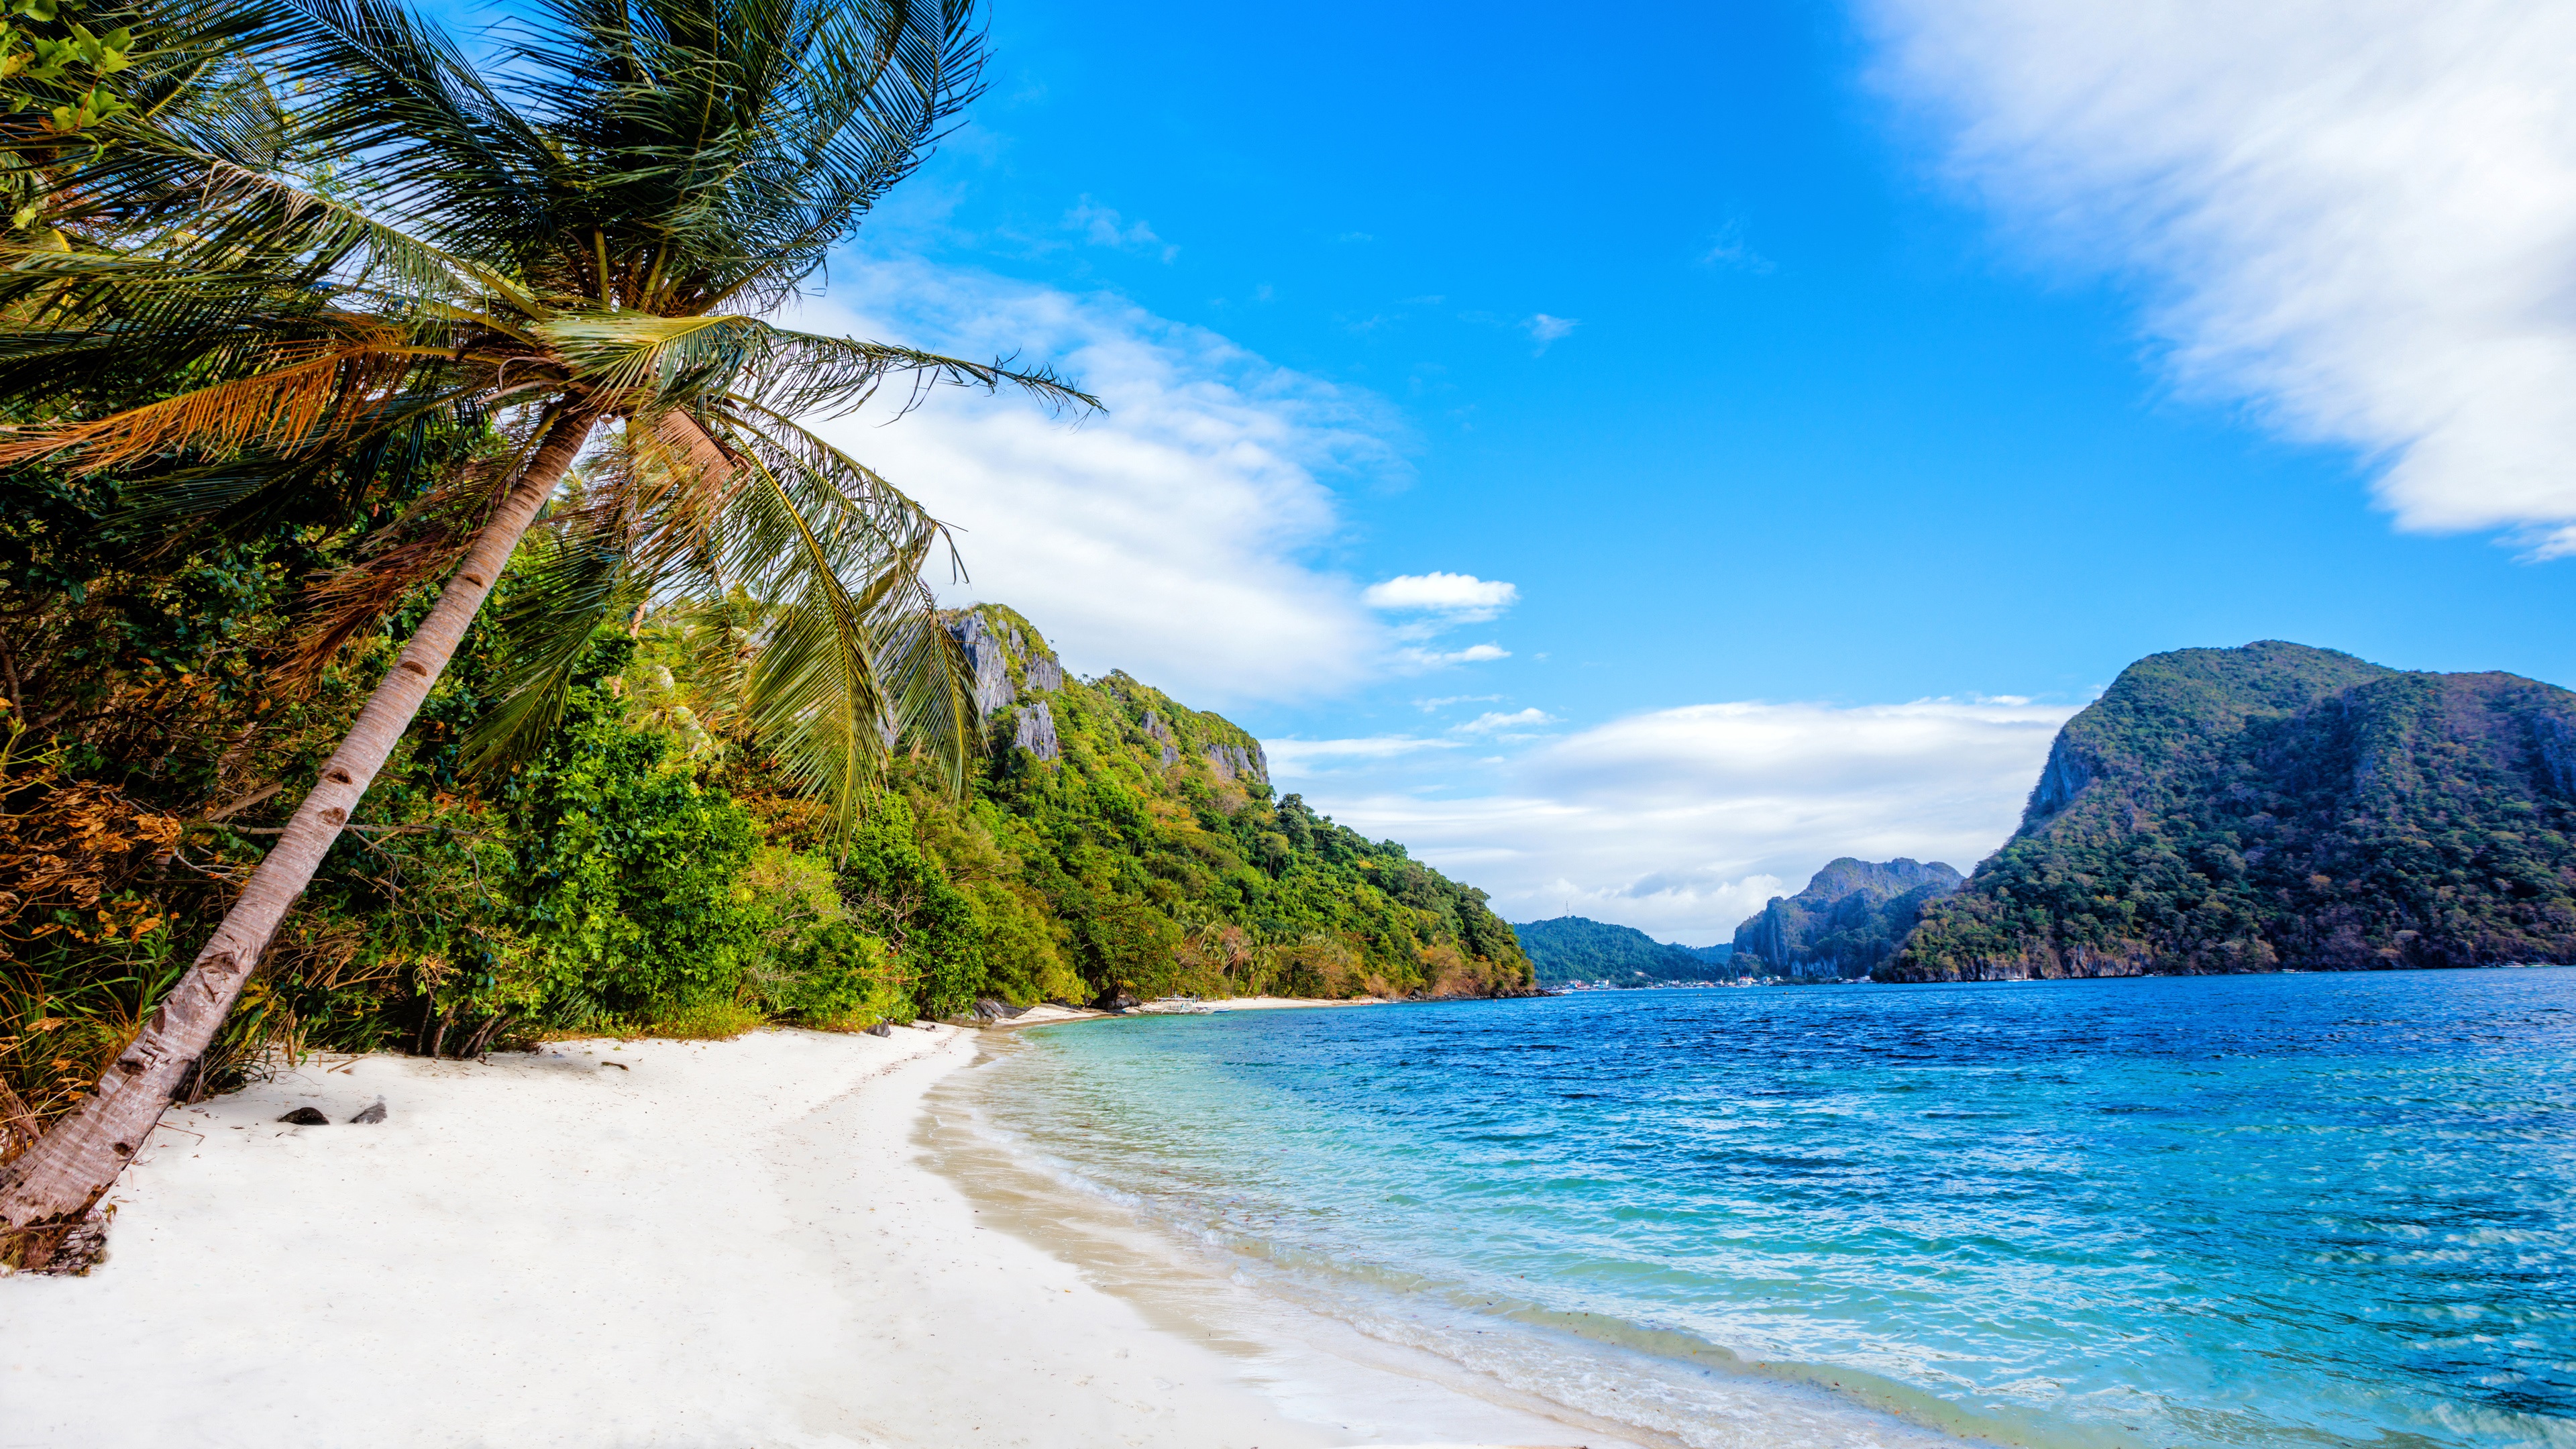
<instances>
[{"instance_id":1,"label":"low white cloud bank on the horizon between the two hills","mask_svg":"<svg viewBox=\"0 0 2576 1449\"><path fill-rule=\"evenodd\" d=\"M1484 887L1512 920L1571 908L1708 944L1834 856L1973 869L2017 825L2069 714L1945 699L1695 704L1540 745L1461 799L1425 792L1412 766L1350 771L1309 799Z\"/></svg>"}]
</instances>

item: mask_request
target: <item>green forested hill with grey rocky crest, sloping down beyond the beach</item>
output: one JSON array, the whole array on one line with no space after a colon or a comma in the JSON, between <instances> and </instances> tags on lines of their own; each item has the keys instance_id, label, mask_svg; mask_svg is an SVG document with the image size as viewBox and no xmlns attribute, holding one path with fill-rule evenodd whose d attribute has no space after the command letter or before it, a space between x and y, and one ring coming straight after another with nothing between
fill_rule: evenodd
<instances>
[{"instance_id":1,"label":"green forested hill with grey rocky crest, sloping down beyond the beach","mask_svg":"<svg viewBox=\"0 0 2576 1449\"><path fill-rule=\"evenodd\" d=\"M1535 987L1484 892L1273 799L1242 727L1110 673L1069 678L999 606L956 616L987 768L963 804L912 789L922 841L1036 931L984 957L1038 995L1497 995Z\"/></svg>"}]
</instances>

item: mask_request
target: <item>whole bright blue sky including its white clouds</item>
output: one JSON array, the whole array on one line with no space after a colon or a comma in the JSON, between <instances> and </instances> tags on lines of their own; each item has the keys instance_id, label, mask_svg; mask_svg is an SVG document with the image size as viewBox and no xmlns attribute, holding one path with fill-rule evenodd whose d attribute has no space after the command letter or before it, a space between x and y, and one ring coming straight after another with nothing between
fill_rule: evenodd
<instances>
[{"instance_id":1,"label":"whole bright blue sky including its white clouds","mask_svg":"<svg viewBox=\"0 0 2576 1449\"><path fill-rule=\"evenodd\" d=\"M2146 652L2576 683L2566 8L2251 10L999 0L806 322L1110 397L842 425L956 596L1716 941L1973 866Z\"/></svg>"}]
</instances>

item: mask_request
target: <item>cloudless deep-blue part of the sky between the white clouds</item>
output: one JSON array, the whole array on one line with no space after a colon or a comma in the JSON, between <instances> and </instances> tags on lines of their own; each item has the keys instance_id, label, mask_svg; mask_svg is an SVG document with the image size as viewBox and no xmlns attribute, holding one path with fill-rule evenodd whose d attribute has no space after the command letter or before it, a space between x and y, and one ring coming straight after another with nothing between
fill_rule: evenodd
<instances>
[{"instance_id":1,"label":"cloudless deep-blue part of the sky between the white clouds","mask_svg":"<svg viewBox=\"0 0 2576 1449\"><path fill-rule=\"evenodd\" d=\"M2257 637L2576 681L2576 572L2398 534L2354 449L2179 400L2138 286L1945 186L1855 28L1005 0L886 232L1386 400L1409 477L1340 490L1324 565L1517 583L1481 678L1551 709L2081 696Z\"/></svg>"}]
</instances>

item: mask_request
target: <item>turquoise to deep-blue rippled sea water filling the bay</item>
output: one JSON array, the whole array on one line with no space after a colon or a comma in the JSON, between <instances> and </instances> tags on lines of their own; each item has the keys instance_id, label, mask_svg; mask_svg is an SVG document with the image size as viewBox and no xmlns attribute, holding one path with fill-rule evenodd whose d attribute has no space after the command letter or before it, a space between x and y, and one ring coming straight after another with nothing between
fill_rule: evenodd
<instances>
[{"instance_id":1,"label":"turquoise to deep-blue rippled sea water filling the bay","mask_svg":"<svg viewBox=\"0 0 2576 1449\"><path fill-rule=\"evenodd\" d=\"M2571 969L1154 1016L992 1078L1061 1176L1682 1441L1716 1372L2009 1444L2576 1446Z\"/></svg>"}]
</instances>

